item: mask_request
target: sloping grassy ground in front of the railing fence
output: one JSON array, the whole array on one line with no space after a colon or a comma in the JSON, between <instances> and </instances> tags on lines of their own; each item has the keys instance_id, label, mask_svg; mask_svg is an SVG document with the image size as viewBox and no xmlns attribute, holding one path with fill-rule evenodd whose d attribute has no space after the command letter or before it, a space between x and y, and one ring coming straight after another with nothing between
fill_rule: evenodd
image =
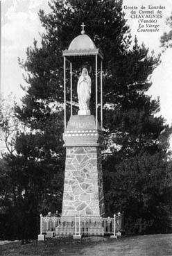
<instances>
[{"instance_id":1,"label":"sloping grassy ground in front of the railing fence","mask_svg":"<svg viewBox=\"0 0 172 256\"><path fill-rule=\"evenodd\" d=\"M54 238L0 246L1 256L172 256L172 234L152 234L110 239L109 237Z\"/></svg>"}]
</instances>

